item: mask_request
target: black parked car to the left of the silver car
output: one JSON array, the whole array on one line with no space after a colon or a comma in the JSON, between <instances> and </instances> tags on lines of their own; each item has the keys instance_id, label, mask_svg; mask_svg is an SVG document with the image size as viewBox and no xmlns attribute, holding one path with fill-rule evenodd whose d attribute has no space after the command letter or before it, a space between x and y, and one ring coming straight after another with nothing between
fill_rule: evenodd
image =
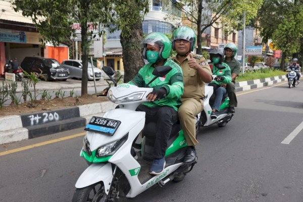
<instances>
[{"instance_id":1,"label":"black parked car to the left of the silver car","mask_svg":"<svg viewBox=\"0 0 303 202\"><path fill-rule=\"evenodd\" d=\"M21 63L21 68L29 74L31 72L43 74L46 81L66 81L70 75L67 69L64 69L57 60L52 58L25 57Z\"/></svg>"}]
</instances>

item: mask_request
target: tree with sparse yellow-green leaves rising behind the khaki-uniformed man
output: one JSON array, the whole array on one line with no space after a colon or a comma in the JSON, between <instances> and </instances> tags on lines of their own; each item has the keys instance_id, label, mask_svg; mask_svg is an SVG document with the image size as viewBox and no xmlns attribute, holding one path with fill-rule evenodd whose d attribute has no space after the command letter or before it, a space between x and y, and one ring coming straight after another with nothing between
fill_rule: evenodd
<instances>
[{"instance_id":1,"label":"tree with sparse yellow-green leaves rising behind the khaki-uniformed man","mask_svg":"<svg viewBox=\"0 0 303 202\"><path fill-rule=\"evenodd\" d=\"M172 1L172 0L171 0ZM197 54L202 53L202 33L207 28L221 21L225 32L239 29L239 21L243 12L247 24L257 16L263 0L180 0L176 8L184 13L185 19L193 24L197 33ZM241 21L240 21L241 22Z\"/></svg>"}]
</instances>

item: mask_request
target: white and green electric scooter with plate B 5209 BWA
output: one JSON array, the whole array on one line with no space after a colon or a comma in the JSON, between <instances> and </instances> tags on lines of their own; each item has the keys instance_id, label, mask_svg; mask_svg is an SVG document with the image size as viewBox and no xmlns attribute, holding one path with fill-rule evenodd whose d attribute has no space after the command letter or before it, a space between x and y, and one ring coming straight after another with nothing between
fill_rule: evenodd
<instances>
[{"instance_id":1,"label":"white and green electric scooter with plate B 5209 BWA","mask_svg":"<svg viewBox=\"0 0 303 202\"><path fill-rule=\"evenodd\" d=\"M110 110L103 117L92 117L86 125L87 133L80 156L90 166L76 182L72 201L123 201L155 184L163 186L169 181L181 181L196 162L183 163L187 143L180 126L173 125L163 173L149 175L155 139L153 131L157 126L152 122L144 126L145 112L137 112L135 109L148 102L146 96L153 88L126 83L117 86L112 78L114 70L111 67L103 67L103 70L115 83L107 97L118 104L119 109ZM170 66L156 67L153 72L155 77L149 83L170 70ZM136 143L140 133L143 139L141 143Z\"/></svg>"}]
</instances>

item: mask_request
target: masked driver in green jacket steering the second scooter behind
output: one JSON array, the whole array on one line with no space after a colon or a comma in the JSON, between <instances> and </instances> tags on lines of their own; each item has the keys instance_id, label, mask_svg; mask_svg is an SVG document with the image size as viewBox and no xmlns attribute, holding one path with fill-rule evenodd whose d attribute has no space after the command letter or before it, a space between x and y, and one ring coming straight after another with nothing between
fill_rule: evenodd
<instances>
[{"instance_id":1,"label":"masked driver in green jacket steering the second scooter behind","mask_svg":"<svg viewBox=\"0 0 303 202\"><path fill-rule=\"evenodd\" d=\"M210 52L211 61L213 64L213 75L217 77L209 85L214 87L215 102L212 106L211 118L217 119L220 115L220 105L223 95L226 94L226 85L231 82L230 68L226 63L223 63L224 53L222 49L215 48Z\"/></svg>"}]
</instances>

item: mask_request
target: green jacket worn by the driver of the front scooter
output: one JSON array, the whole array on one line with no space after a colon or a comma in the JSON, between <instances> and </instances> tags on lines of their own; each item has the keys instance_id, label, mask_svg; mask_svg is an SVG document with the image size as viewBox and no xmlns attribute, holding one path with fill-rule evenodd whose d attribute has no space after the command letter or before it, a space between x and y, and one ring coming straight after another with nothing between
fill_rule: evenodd
<instances>
[{"instance_id":1,"label":"green jacket worn by the driver of the front scooter","mask_svg":"<svg viewBox=\"0 0 303 202\"><path fill-rule=\"evenodd\" d=\"M164 77L159 77L155 81L149 84L149 87L155 90L160 88L166 89L166 97L160 100L155 100L154 102L143 103L148 107L172 107L178 111L181 105L181 95L183 94L183 74L182 69L177 63L170 59L167 59L163 66L171 66L172 70L167 73ZM147 83L153 79L154 67L150 63L144 65L139 73L129 81L129 84L136 85L138 87L146 87Z\"/></svg>"}]
</instances>

